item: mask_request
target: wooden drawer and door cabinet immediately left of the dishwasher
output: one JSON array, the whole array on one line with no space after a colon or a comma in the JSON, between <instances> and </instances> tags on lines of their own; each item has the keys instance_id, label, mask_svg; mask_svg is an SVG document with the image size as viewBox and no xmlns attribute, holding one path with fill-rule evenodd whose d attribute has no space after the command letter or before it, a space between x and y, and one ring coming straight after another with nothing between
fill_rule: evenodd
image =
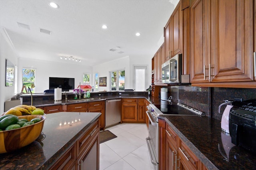
<instances>
[{"instance_id":1,"label":"wooden drawer and door cabinet immediately left of the dishwasher","mask_svg":"<svg viewBox=\"0 0 256 170\"><path fill-rule=\"evenodd\" d=\"M94 101L88 103L88 112L99 112L100 128L105 127L105 101Z\"/></svg>"}]
</instances>

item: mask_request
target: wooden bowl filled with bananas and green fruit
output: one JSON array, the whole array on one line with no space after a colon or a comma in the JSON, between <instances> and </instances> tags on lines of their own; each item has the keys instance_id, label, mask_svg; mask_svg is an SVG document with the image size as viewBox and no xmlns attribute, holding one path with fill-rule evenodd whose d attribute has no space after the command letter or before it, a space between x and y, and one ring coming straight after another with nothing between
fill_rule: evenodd
<instances>
[{"instance_id":1,"label":"wooden bowl filled with bananas and green fruit","mask_svg":"<svg viewBox=\"0 0 256 170\"><path fill-rule=\"evenodd\" d=\"M8 114L4 113L0 117L0 154L12 152L36 140L43 130L46 119L43 111L40 115L35 112L32 114L32 111L36 110L35 107L21 113L10 110L6 112Z\"/></svg>"}]
</instances>

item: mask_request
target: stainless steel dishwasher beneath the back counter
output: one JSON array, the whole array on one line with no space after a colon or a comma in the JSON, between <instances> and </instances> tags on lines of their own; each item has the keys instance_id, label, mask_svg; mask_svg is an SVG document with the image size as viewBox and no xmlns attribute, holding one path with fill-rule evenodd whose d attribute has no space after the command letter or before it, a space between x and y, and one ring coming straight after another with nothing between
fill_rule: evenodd
<instances>
[{"instance_id":1,"label":"stainless steel dishwasher beneath the back counter","mask_svg":"<svg viewBox=\"0 0 256 170\"><path fill-rule=\"evenodd\" d=\"M121 122L121 99L106 100L105 127Z\"/></svg>"}]
</instances>

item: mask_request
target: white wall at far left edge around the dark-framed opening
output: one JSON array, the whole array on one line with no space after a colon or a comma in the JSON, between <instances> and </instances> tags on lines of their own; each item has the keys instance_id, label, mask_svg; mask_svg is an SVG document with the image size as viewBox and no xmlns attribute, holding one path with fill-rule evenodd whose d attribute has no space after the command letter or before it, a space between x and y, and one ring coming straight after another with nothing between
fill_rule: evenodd
<instances>
[{"instance_id":1,"label":"white wall at far left edge around the dark-framed opening","mask_svg":"<svg viewBox=\"0 0 256 170\"><path fill-rule=\"evenodd\" d=\"M0 28L0 114L4 112L4 101L14 95L14 86L5 87L5 59L18 65L18 56L4 28Z\"/></svg>"}]
</instances>

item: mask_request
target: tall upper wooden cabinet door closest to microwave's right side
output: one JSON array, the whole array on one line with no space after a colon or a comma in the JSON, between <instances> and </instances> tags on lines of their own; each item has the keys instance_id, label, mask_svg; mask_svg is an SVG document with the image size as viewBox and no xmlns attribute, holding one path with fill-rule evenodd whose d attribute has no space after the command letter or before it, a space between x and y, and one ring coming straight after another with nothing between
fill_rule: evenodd
<instances>
[{"instance_id":1,"label":"tall upper wooden cabinet door closest to microwave's right side","mask_svg":"<svg viewBox=\"0 0 256 170\"><path fill-rule=\"evenodd\" d=\"M195 0L190 8L190 80L210 82L205 77L210 64L210 1Z\"/></svg>"}]
</instances>

